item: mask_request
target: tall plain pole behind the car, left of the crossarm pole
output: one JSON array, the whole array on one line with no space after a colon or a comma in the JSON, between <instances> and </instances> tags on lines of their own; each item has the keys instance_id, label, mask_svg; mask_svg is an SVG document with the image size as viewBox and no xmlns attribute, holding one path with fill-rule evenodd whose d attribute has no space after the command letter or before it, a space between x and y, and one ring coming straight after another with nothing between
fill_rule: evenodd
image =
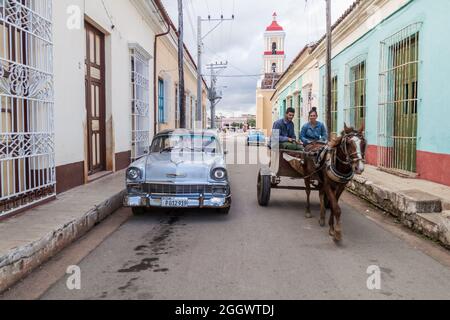
<instances>
[{"instance_id":1,"label":"tall plain pole behind the car, left of the crossarm pole","mask_svg":"<svg viewBox=\"0 0 450 320\"><path fill-rule=\"evenodd\" d=\"M183 0L178 0L178 108L180 127L186 129L186 96L184 93Z\"/></svg>"}]
</instances>

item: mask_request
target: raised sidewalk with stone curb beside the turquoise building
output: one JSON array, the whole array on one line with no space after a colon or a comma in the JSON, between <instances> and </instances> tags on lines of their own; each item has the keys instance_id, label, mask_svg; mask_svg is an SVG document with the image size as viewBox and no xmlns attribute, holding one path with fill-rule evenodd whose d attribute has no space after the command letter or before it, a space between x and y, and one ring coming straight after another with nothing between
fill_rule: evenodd
<instances>
[{"instance_id":1,"label":"raised sidewalk with stone curb beside the turquoise building","mask_svg":"<svg viewBox=\"0 0 450 320\"><path fill-rule=\"evenodd\" d=\"M405 226L450 248L450 187L366 166L364 174L356 176L348 189Z\"/></svg>"}]
</instances>

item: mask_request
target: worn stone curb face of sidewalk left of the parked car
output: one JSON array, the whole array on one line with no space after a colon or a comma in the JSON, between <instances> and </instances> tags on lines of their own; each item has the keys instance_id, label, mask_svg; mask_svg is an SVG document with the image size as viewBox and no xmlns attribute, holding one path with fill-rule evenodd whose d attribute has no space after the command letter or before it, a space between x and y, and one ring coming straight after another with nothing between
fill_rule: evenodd
<instances>
[{"instance_id":1,"label":"worn stone curb face of sidewalk left of the parked car","mask_svg":"<svg viewBox=\"0 0 450 320\"><path fill-rule=\"evenodd\" d=\"M124 196L125 190L38 241L14 248L7 255L0 257L0 293L25 278L33 270L120 209Z\"/></svg>"}]
</instances>

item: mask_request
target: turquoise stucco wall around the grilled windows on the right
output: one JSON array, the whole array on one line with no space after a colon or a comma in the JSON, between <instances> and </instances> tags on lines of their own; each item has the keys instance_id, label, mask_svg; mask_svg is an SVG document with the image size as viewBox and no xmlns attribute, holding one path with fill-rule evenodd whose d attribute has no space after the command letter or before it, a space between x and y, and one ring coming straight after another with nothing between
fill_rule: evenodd
<instances>
[{"instance_id":1,"label":"turquoise stucco wall around the grilled windows on the right","mask_svg":"<svg viewBox=\"0 0 450 320\"><path fill-rule=\"evenodd\" d=\"M380 43L403 28L422 22L419 43L419 110L418 150L450 154L450 92L447 75L450 71L448 56L450 44L438 36L450 33L447 0L413 0L389 16L362 38L339 52L332 62L338 75L338 125L344 124L345 64L353 58L367 54L367 137L369 144L377 144L377 121L379 103ZM438 33L437 33L438 32ZM321 78L325 73L321 67ZM321 86L323 88L323 86Z\"/></svg>"}]
</instances>

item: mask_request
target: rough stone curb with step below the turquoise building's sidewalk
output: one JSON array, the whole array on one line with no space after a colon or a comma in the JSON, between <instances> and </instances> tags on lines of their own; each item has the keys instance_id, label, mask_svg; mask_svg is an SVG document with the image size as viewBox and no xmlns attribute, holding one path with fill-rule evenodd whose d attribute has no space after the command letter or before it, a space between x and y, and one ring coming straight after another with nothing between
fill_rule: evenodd
<instances>
[{"instance_id":1,"label":"rough stone curb with step below the turquoise building's sidewalk","mask_svg":"<svg viewBox=\"0 0 450 320\"><path fill-rule=\"evenodd\" d=\"M357 176L348 191L398 218L415 232L450 249L448 203L418 190L393 191Z\"/></svg>"}]
</instances>

